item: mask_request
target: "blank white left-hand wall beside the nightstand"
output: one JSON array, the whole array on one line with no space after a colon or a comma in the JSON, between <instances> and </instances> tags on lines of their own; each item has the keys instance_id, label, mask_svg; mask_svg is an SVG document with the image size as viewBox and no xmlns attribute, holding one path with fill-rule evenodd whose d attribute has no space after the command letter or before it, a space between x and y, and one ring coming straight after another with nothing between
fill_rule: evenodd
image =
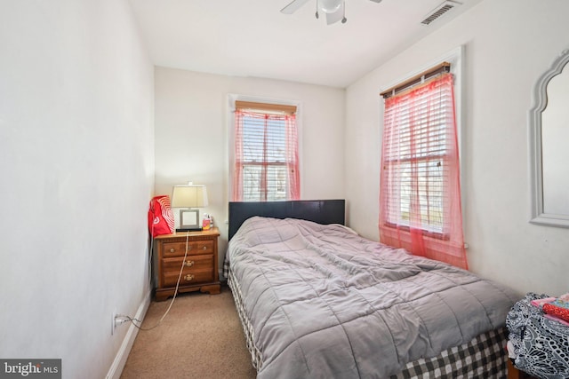
<instances>
[{"instance_id":1,"label":"blank white left-hand wall beside the nightstand","mask_svg":"<svg viewBox=\"0 0 569 379\"><path fill-rule=\"evenodd\" d=\"M101 378L148 298L153 67L126 0L3 0L0 54L0 357Z\"/></svg>"}]
</instances>

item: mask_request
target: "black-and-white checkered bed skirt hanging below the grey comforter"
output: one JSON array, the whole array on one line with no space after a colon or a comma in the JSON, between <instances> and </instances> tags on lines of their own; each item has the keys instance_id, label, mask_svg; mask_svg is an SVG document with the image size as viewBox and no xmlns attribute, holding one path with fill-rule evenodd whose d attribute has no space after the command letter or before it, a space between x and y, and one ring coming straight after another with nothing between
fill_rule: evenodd
<instances>
[{"instance_id":1,"label":"black-and-white checkered bed skirt hanging below the grey comforter","mask_svg":"<svg viewBox=\"0 0 569 379\"><path fill-rule=\"evenodd\" d=\"M224 265L224 274L226 267ZM243 325L247 349L251 353L252 366L260 370L262 356L255 347L254 334L242 302L241 288L233 277L231 270L225 275L228 278L228 286L231 288L235 299L237 313ZM503 327L494 329L485 334L475 337L469 343L452 347L441 352L437 357L418 359L407 363L405 369L397 375L391 375L390 379L401 378L485 378L501 379L508 375L508 354L505 351L508 340L508 329Z\"/></svg>"}]
</instances>

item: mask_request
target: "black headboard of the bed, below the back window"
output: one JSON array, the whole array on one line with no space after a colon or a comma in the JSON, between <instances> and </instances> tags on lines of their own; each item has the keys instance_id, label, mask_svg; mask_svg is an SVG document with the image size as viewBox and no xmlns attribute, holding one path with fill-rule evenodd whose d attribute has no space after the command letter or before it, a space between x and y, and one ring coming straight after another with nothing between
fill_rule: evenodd
<instances>
[{"instance_id":1,"label":"black headboard of the bed, below the back window","mask_svg":"<svg viewBox=\"0 0 569 379\"><path fill-rule=\"evenodd\" d=\"M301 218L318 224L341 224L346 222L346 201L297 200L297 201L230 201L229 235L233 234L247 218L253 216L274 218Z\"/></svg>"}]
</instances>

